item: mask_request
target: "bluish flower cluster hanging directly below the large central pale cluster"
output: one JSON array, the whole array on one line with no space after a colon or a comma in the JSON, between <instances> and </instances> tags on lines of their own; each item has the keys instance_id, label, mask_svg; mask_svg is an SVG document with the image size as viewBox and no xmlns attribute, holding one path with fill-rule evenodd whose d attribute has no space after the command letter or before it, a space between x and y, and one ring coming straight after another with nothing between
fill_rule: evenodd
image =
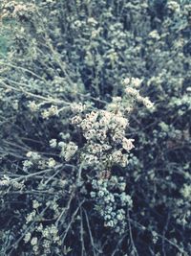
<instances>
[{"instance_id":1,"label":"bluish flower cluster hanging directly below the large central pale cluster","mask_svg":"<svg viewBox=\"0 0 191 256\"><path fill-rule=\"evenodd\" d=\"M96 200L96 211L105 222L117 233L123 233L126 227L126 211L133 206L132 198L125 193L126 183L122 176L111 176L110 179L94 179L91 198Z\"/></svg>"}]
</instances>

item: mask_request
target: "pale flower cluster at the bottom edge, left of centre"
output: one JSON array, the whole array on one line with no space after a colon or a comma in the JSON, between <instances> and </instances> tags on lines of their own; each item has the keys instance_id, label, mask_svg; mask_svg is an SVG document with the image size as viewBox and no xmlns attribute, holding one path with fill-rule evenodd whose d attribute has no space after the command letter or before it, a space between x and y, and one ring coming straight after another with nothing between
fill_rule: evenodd
<instances>
[{"instance_id":1,"label":"pale flower cluster at the bottom edge, left of centre","mask_svg":"<svg viewBox=\"0 0 191 256\"><path fill-rule=\"evenodd\" d=\"M52 222L60 214L60 208L53 199L52 201L44 203L34 199L32 201L32 212L26 216L26 223L31 224L23 238L25 244L32 246L34 255L49 255L52 247L56 247L56 252L60 253L61 239L57 225ZM42 207L43 206L43 207ZM43 211L41 211L43 208ZM50 218L51 223L46 223L46 212L52 211L53 218ZM40 214L39 214L40 213Z\"/></svg>"}]
</instances>

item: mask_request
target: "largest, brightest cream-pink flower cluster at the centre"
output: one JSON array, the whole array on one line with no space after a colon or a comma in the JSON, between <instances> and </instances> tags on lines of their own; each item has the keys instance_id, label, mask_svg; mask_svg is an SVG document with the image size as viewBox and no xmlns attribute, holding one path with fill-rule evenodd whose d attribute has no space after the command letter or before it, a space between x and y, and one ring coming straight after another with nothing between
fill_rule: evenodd
<instances>
[{"instance_id":1,"label":"largest, brightest cream-pink flower cluster at the centre","mask_svg":"<svg viewBox=\"0 0 191 256\"><path fill-rule=\"evenodd\" d=\"M134 140L125 137L128 120L121 113L97 109L84 116L74 116L72 124L81 129L86 139L80 153L85 165L96 165L101 170L114 164L127 165Z\"/></svg>"}]
</instances>

